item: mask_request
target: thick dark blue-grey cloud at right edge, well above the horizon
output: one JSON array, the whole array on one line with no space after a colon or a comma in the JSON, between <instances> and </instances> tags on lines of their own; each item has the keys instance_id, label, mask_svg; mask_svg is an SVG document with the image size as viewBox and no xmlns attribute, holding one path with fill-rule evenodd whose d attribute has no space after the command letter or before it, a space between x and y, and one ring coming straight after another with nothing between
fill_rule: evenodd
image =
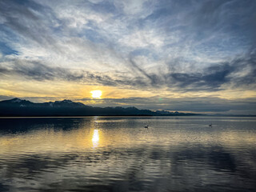
<instances>
[{"instance_id":1,"label":"thick dark blue-grey cloud at right edge, well above the horizon","mask_svg":"<svg viewBox=\"0 0 256 192\"><path fill-rule=\"evenodd\" d=\"M234 87L255 88L256 54L252 51L230 62L221 62L211 65L201 73L175 73L166 74L167 82L178 88L190 90L219 90L223 85ZM242 73L241 76L238 73Z\"/></svg>"}]
</instances>

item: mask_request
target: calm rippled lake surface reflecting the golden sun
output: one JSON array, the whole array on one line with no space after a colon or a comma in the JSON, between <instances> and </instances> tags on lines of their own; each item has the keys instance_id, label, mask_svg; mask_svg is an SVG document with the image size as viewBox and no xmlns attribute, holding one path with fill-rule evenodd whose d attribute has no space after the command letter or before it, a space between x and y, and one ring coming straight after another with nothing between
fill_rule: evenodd
<instances>
[{"instance_id":1,"label":"calm rippled lake surface reflecting the golden sun","mask_svg":"<svg viewBox=\"0 0 256 192\"><path fill-rule=\"evenodd\" d=\"M256 118L0 118L0 191L255 191L255 125Z\"/></svg>"}]
</instances>

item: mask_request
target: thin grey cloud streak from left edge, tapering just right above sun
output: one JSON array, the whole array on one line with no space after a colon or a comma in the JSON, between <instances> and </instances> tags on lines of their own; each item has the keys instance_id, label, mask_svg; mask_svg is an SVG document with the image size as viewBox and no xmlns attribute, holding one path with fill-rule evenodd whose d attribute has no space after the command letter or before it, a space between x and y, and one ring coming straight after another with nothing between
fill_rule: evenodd
<instances>
[{"instance_id":1,"label":"thin grey cloud streak from left edge, tapering just right above sun","mask_svg":"<svg viewBox=\"0 0 256 192\"><path fill-rule=\"evenodd\" d=\"M5 75L18 75L25 79L36 81L71 81L82 82L87 85L103 86L147 86L146 82L138 78L128 77L112 78L110 75L93 73L90 71L70 70L58 66L48 66L39 61L11 60L0 65L0 77ZM8 67L6 67L8 66Z\"/></svg>"}]
</instances>

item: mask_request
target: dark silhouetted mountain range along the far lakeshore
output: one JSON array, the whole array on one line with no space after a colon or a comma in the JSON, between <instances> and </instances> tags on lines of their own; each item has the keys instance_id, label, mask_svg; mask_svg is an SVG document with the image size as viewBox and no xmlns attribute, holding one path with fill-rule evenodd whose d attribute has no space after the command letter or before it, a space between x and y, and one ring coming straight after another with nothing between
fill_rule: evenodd
<instances>
[{"instance_id":1,"label":"dark silhouetted mountain range along the far lakeshore","mask_svg":"<svg viewBox=\"0 0 256 192\"><path fill-rule=\"evenodd\" d=\"M0 102L2 117L37 117L37 116L187 116L177 111L172 113L165 110L138 110L136 107L93 107L82 102L70 100L34 103L19 98Z\"/></svg>"}]
</instances>

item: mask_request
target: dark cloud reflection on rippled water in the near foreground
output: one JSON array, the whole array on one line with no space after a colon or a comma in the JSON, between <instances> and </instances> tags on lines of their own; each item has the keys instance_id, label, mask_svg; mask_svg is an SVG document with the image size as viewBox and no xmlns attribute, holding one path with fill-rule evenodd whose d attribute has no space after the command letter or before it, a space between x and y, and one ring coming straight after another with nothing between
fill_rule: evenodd
<instances>
[{"instance_id":1,"label":"dark cloud reflection on rippled water in the near foreground","mask_svg":"<svg viewBox=\"0 0 256 192\"><path fill-rule=\"evenodd\" d=\"M254 154L246 155L251 159ZM222 190L221 186L230 186L225 190L243 187L246 191L254 187L256 167L248 164L245 157L241 162L240 156L239 152L224 150L220 146L162 148L159 145L77 154L27 154L5 162L0 175L6 178L6 182L0 179L0 184L8 186L7 181L18 180L15 186L18 189L26 186L26 178L30 178L30 183L38 184L30 186L34 190L41 186L51 190L79 190L80 187L94 186L91 191L185 191L194 187L202 190L206 186ZM0 161L0 166L2 163ZM82 183L82 186L76 183ZM114 190L116 187L118 190Z\"/></svg>"}]
</instances>

